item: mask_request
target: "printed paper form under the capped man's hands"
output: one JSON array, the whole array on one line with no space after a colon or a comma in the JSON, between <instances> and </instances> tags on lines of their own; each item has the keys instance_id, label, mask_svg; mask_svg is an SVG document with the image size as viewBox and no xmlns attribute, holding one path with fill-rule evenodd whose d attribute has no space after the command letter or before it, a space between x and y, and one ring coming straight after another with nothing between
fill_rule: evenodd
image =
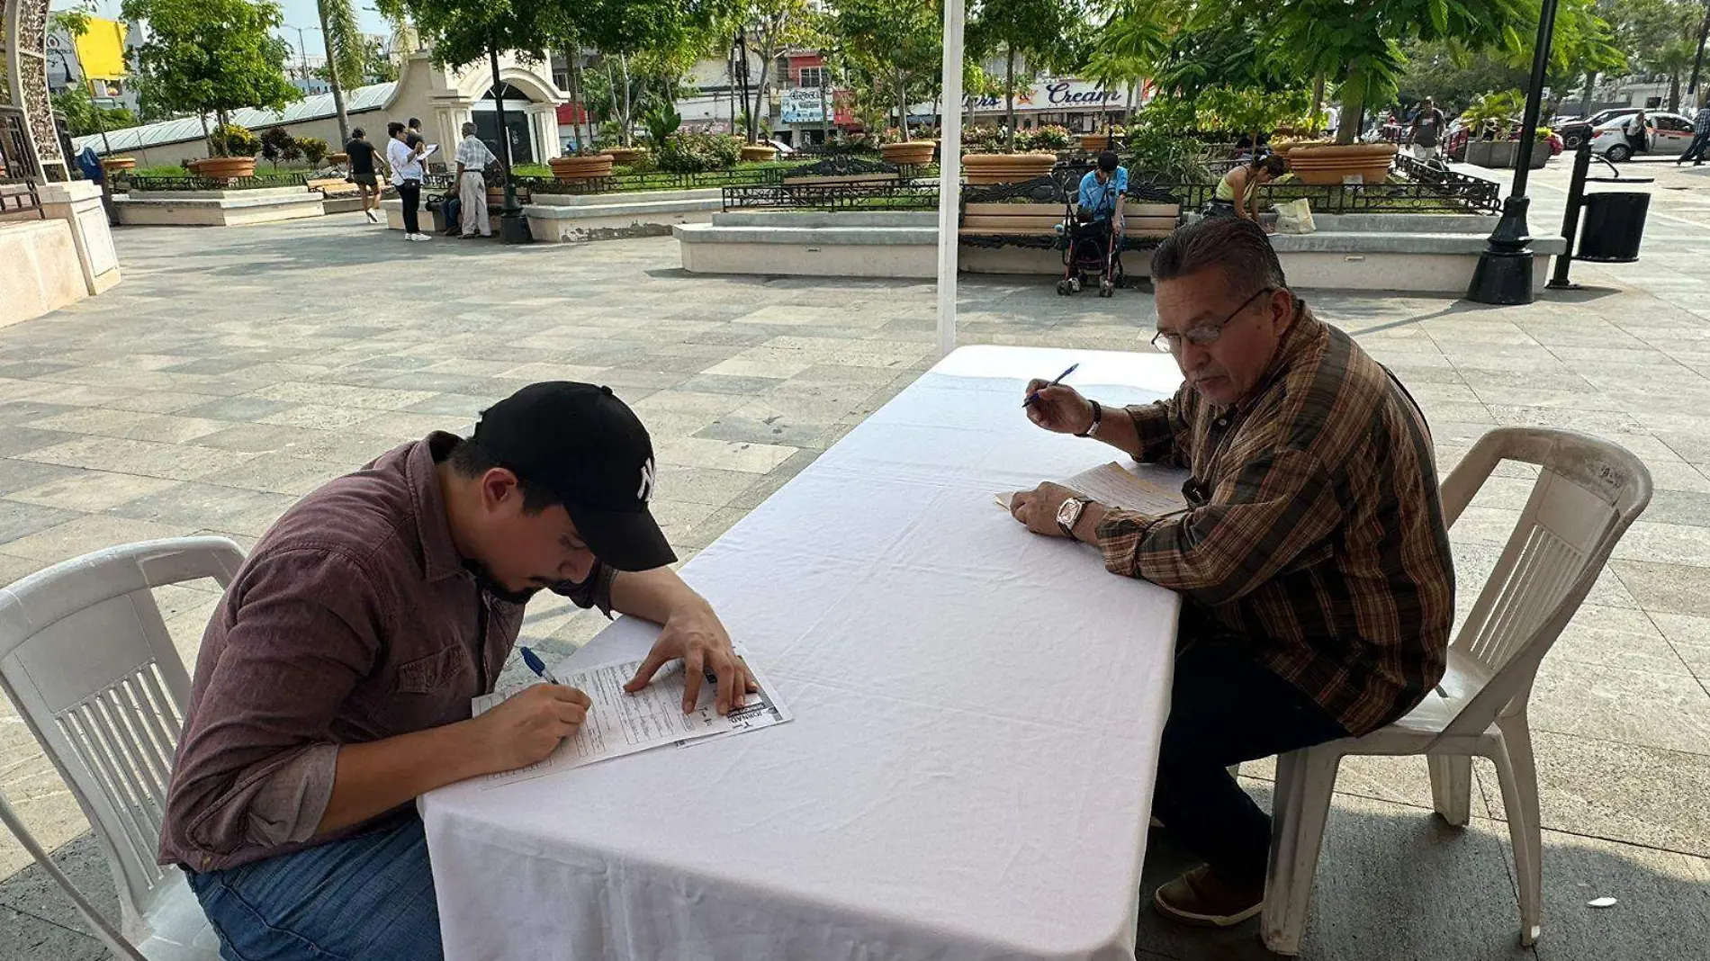
<instances>
[{"instance_id":1,"label":"printed paper form under the capped man's hands","mask_svg":"<svg viewBox=\"0 0 1710 961\"><path fill-rule=\"evenodd\" d=\"M740 710L718 716L713 710L718 686L708 675L708 684L701 686L701 696L694 710L682 713L684 679L681 662L672 670L662 670L653 682L641 691L629 694L624 682L634 677L640 660L607 663L576 674L557 677L569 687L578 687L593 706L588 708L587 720L575 735L566 737L547 754L544 761L487 775L481 788L494 788L539 778L552 771L566 771L595 764L610 758L622 758L638 751L648 751L665 744L694 744L718 735L758 730L790 720L790 710L783 706L771 686L756 670L754 681L758 694L747 694ZM752 670L752 665L749 667ZM479 715L499 705L522 687L494 691L470 701L472 713Z\"/></svg>"}]
</instances>

